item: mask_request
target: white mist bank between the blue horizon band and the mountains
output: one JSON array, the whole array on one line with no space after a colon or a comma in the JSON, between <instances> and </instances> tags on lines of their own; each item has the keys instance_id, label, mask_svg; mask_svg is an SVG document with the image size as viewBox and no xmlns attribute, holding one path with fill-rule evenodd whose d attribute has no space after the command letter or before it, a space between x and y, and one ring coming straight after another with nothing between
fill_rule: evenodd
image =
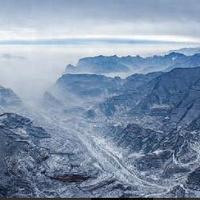
<instances>
[{"instance_id":1,"label":"white mist bank between the blue horizon band and the mountains","mask_svg":"<svg viewBox=\"0 0 200 200\"><path fill-rule=\"evenodd\" d=\"M67 64L98 55L149 56L182 48L182 44L1 45L0 85L23 100L41 98L64 73Z\"/></svg>"}]
</instances>

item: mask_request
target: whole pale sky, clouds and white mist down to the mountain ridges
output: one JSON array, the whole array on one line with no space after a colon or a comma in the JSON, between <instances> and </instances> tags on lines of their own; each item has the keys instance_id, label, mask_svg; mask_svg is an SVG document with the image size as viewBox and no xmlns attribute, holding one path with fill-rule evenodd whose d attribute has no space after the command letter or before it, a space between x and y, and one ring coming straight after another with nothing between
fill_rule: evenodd
<instances>
[{"instance_id":1,"label":"whole pale sky, clouds and white mist down to the mountain ridges","mask_svg":"<svg viewBox=\"0 0 200 200\"><path fill-rule=\"evenodd\" d=\"M0 85L41 97L67 64L200 46L200 0L0 0Z\"/></svg>"}]
</instances>

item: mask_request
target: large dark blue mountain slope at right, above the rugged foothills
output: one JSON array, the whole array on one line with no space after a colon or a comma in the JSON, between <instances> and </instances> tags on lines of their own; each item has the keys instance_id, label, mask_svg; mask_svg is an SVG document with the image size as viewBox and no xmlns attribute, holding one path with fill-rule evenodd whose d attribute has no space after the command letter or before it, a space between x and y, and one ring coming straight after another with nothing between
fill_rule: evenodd
<instances>
[{"instance_id":1,"label":"large dark blue mountain slope at right, above the rugged foothills","mask_svg":"<svg viewBox=\"0 0 200 200\"><path fill-rule=\"evenodd\" d=\"M194 121L200 114L200 68L177 68L157 75L143 85L108 98L100 105L101 110L107 116L122 111L136 116L169 117L173 123Z\"/></svg>"}]
</instances>

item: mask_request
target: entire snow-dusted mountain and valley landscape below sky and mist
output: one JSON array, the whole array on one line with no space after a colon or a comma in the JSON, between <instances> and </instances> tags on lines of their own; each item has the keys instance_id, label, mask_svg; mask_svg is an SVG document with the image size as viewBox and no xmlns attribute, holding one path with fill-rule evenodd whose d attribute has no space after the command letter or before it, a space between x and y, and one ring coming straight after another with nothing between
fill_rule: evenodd
<instances>
[{"instance_id":1,"label":"entire snow-dusted mountain and valley landscape below sky and mist","mask_svg":"<svg viewBox=\"0 0 200 200\"><path fill-rule=\"evenodd\" d=\"M1 87L0 196L198 197L199 102L174 52L83 58L31 107Z\"/></svg>"}]
</instances>

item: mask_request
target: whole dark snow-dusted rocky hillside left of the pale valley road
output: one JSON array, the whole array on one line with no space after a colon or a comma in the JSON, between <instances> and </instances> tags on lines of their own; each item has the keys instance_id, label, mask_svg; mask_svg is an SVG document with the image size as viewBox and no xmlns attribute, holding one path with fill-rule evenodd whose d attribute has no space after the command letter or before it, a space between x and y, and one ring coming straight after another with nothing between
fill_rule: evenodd
<instances>
[{"instance_id":1,"label":"whole dark snow-dusted rocky hillside left of the pale valley road","mask_svg":"<svg viewBox=\"0 0 200 200\"><path fill-rule=\"evenodd\" d=\"M78 138L65 137L61 130L52 133L53 138L17 114L0 115L0 197L118 197L126 193L126 186L106 174Z\"/></svg>"}]
</instances>

